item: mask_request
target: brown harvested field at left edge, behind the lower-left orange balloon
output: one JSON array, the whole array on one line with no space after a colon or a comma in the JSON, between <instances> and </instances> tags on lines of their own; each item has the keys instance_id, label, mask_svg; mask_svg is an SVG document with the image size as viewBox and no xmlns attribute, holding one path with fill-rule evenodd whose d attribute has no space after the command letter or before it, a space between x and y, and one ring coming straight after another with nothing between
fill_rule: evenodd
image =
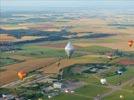
<instances>
[{"instance_id":1,"label":"brown harvested field at left edge, behind the lower-left orange balloon","mask_svg":"<svg viewBox=\"0 0 134 100\"><path fill-rule=\"evenodd\" d=\"M55 62L55 58L42 58L42 59L34 59L27 60L22 63L12 64L9 66L5 66L5 71L0 73L0 86L3 84L7 84L17 80L17 72L20 70L24 70L26 72L36 70L40 67L44 67Z\"/></svg>"}]
</instances>

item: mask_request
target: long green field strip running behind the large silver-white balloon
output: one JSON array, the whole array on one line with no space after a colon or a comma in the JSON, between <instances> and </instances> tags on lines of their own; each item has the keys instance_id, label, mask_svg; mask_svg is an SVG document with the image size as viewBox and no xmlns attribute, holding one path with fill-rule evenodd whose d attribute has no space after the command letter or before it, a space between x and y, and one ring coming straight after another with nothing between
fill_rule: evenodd
<instances>
[{"instance_id":1,"label":"long green field strip running behind the large silver-white balloon","mask_svg":"<svg viewBox=\"0 0 134 100\"><path fill-rule=\"evenodd\" d=\"M24 46L16 54L31 57L66 57L65 51L62 49L41 48L38 46ZM73 57L80 55L82 54L75 53Z\"/></svg>"}]
</instances>

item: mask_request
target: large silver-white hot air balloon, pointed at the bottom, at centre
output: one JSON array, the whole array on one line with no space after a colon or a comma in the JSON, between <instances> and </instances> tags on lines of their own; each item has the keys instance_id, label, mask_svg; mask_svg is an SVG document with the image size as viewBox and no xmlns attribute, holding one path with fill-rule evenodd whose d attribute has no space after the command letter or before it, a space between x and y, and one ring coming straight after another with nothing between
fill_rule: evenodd
<instances>
[{"instance_id":1,"label":"large silver-white hot air balloon, pointed at the bottom, at centre","mask_svg":"<svg viewBox=\"0 0 134 100\"><path fill-rule=\"evenodd\" d=\"M65 52L67 53L68 58L72 56L74 53L74 47L71 42L68 42L66 47L65 47Z\"/></svg>"}]
</instances>

